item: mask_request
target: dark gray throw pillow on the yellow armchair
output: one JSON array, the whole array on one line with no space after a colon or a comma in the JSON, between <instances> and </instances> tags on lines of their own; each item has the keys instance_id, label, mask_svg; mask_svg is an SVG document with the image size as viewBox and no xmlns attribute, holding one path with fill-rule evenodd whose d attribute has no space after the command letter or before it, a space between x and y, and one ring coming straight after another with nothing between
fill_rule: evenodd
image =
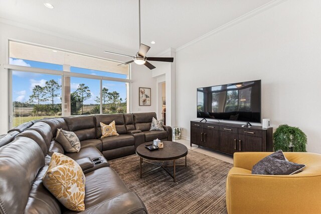
<instances>
[{"instance_id":1,"label":"dark gray throw pillow on the yellow armchair","mask_svg":"<svg viewBox=\"0 0 321 214\"><path fill-rule=\"evenodd\" d=\"M304 164L288 161L282 150L278 150L255 164L252 168L252 174L292 175L302 171L304 167Z\"/></svg>"}]
</instances>

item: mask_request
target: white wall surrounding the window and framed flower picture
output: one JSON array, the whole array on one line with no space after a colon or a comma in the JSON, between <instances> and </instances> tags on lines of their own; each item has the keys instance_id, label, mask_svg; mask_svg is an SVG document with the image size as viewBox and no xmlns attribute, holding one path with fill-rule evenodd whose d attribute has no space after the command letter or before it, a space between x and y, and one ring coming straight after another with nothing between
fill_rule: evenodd
<instances>
[{"instance_id":1,"label":"white wall surrounding the window and framed flower picture","mask_svg":"<svg viewBox=\"0 0 321 214\"><path fill-rule=\"evenodd\" d=\"M15 27L14 25L17 24L13 23L13 25L9 25L0 22L0 134L7 133L9 124L8 72L3 68L3 64L8 63L8 39L21 40L98 57L106 57L107 55L102 53L102 51L110 50L109 47L88 43L87 41L79 41L73 38L67 38L57 33L42 32L39 29L34 29L24 25L19 25L19 27ZM110 57L110 55L108 57ZM125 61L128 59L126 57L118 56L111 57L113 57L112 59L119 61ZM131 71L131 77L133 80L131 87L132 112L155 112L155 102L151 102L151 106L138 106L138 87L150 87L152 98L156 97L155 78L152 78L150 70L145 68L145 66L137 66L133 63Z\"/></svg>"}]
</instances>

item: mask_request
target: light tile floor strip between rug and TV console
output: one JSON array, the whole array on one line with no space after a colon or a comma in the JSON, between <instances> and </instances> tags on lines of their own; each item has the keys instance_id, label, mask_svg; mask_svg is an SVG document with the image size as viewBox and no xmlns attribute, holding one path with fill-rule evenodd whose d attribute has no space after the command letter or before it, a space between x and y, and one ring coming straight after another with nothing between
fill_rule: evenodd
<instances>
[{"instance_id":1,"label":"light tile floor strip between rug and TV console","mask_svg":"<svg viewBox=\"0 0 321 214\"><path fill-rule=\"evenodd\" d=\"M206 148L199 148L195 144L192 144L192 147L191 147L190 141L188 141L188 140L181 139L181 140L173 140L173 141L184 144L188 149L192 149L193 151L202 153L204 155L208 155L213 158L220 159L220 160L228 162L228 163L233 163L233 156L231 156L231 155L227 155L227 154L224 154L221 152L216 152L216 151L206 149Z\"/></svg>"}]
</instances>

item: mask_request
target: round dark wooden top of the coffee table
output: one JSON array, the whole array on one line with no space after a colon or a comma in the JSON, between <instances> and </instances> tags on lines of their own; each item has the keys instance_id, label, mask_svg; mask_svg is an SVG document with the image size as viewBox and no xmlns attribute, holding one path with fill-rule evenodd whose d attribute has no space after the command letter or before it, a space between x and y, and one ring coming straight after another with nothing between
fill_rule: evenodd
<instances>
[{"instance_id":1,"label":"round dark wooden top of the coffee table","mask_svg":"<svg viewBox=\"0 0 321 214\"><path fill-rule=\"evenodd\" d=\"M145 145L152 144L152 142L143 143L137 147L136 154L148 160L168 161L185 157L188 153L187 147L183 144L172 141L162 142L164 143L164 148L153 151L145 147Z\"/></svg>"}]
</instances>

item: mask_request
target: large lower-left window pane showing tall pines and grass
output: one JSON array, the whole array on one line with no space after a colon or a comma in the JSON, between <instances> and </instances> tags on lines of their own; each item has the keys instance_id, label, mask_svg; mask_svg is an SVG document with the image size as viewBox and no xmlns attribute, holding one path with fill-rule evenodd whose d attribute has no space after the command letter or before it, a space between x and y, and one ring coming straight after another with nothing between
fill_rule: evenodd
<instances>
[{"instance_id":1,"label":"large lower-left window pane showing tall pines and grass","mask_svg":"<svg viewBox=\"0 0 321 214\"><path fill-rule=\"evenodd\" d=\"M61 116L61 76L12 72L13 127Z\"/></svg>"}]
</instances>

